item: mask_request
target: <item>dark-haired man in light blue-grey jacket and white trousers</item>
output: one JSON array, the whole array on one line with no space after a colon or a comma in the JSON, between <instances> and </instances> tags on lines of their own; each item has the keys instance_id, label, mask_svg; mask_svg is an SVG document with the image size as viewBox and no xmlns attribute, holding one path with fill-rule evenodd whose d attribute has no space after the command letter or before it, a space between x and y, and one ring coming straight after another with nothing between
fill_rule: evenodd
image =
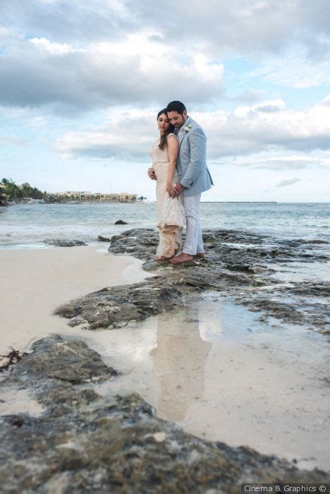
<instances>
[{"instance_id":1,"label":"dark-haired man in light blue-grey jacket and white trousers","mask_svg":"<svg viewBox=\"0 0 330 494\"><path fill-rule=\"evenodd\" d=\"M204 257L202 229L200 226L200 195L213 185L211 174L205 162L206 135L202 127L187 114L185 105L172 101L167 105L167 116L176 127L179 142L176 169L178 183L176 195L183 193L186 233L182 253L170 260L172 264L187 263L193 255ZM152 174L149 175L150 178Z\"/></svg>"}]
</instances>

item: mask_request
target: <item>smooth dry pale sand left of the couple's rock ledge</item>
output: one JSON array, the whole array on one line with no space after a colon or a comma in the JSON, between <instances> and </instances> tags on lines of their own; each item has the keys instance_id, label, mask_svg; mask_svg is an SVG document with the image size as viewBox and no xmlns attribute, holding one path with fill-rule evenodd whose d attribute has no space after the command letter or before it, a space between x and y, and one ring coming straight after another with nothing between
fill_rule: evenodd
<instances>
[{"instance_id":1,"label":"smooth dry pale sand left of the couple's rock ledge","mask_svg":"<svg viewBox=\"0 0 330 494\"><path fill-rule=\"evenodd\" d=\"M104 287L140 282L142 262L98 246L0 250L0 354L31 339L66 332L52 315L61 303Z\"/></svg>"}]
</instances>

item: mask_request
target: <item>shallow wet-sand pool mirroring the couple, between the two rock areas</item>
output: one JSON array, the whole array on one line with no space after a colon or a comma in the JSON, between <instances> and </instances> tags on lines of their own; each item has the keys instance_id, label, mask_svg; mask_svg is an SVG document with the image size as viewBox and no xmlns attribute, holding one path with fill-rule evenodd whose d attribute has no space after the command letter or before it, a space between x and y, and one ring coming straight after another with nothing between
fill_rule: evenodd
<instances>
[{"instance_id":1,"label":"shallow wet-sand pool mirroring the couple, between the two rock areas","mask_svg":"<svg viewBox=\"0 0 330 494\"><path fill-rule=\"evenodd\" d=\"M103 396L138 392L185 432L329 469L329 347L324 335L260 322L219 294L83 338L110 366ZM76 338L76 336L75 336Z\"/></svg>"}]
</instances>

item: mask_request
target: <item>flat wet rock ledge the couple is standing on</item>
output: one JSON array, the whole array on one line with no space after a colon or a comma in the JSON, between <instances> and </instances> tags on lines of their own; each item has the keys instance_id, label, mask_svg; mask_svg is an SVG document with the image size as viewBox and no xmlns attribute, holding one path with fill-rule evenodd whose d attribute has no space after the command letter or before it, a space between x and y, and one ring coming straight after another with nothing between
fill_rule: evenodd
<instances>
[{"instance_id":1,"label":"flat wet rock ledge the couple is standing on","mask_svg":"<svg viewBox=\"0 0 330 494\"><path fill-rule=\"evenodd\" d=\"M130 254L145 260L143 269L152 273L145 282L130 287L104 288L70 301L56 314L70 319L69 325L86 329L123 327L150 315L187 303L202 291L233 296L235 303L250 311L262 311L262 318L305 325L330 334L326 296L330 284L324 281L278 279L279 271L289 272L294 263L326 263L322 241L274 239L245 231L204 231L205 259L173 266L155 263L158 234L149 229L133 229L113 236L109 252Z\"/></svg>"}]
</instances>

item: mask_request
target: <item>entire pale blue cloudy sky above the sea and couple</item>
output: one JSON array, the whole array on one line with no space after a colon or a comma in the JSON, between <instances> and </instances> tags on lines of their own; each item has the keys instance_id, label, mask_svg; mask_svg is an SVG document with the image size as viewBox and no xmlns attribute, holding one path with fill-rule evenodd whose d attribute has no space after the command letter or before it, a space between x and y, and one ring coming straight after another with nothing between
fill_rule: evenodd
<instances>
[{"instance_id":1,"label":"entire pale blue cloudy sky above the sea and couple","mask_svg":"<svg viewBox=\"0 0 330 494\"><path fill-rule=\"evenodd\" d=\"M329 0L0 0L0 179L154 200L172 100L207 135L202 200L329 202Z\"/></svg>"}]
</instances>

